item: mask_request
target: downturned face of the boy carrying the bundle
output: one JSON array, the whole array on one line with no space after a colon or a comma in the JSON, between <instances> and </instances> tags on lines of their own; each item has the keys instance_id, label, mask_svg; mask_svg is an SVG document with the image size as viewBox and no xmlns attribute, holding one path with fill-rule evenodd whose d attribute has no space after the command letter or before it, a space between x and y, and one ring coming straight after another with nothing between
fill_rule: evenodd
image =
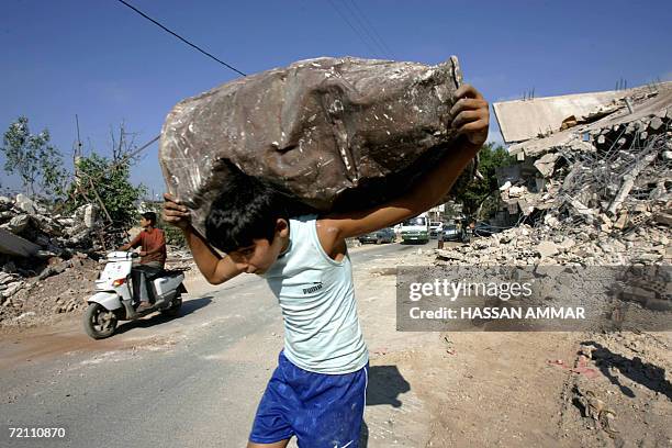
<instances>
[{"instance_id":1,"label":"downturned face of the boy carrying the bundle","mask_svg":"<svg viewBox=\"0 0 672 448\"><path fill-rule=\"evenodd\" d=\"M276 234L271 243L268 239L253 239L254 245L240 247L228 254L238 269L248 273L265 273L278 259L280 253L289 243L289 227L287 221L278 220Z\"/></svg>"}]
</instances>

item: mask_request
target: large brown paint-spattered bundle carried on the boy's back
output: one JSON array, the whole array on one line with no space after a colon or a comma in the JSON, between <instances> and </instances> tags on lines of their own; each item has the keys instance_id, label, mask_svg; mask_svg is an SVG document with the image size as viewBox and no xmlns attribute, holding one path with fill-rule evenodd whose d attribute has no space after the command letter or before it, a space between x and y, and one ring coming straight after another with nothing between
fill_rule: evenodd
<instances>
[{"instance_id":1,"label":"large brown paint-spattered bundle carried on the boy's back","mask_svg":"<svg viewBox=\"0 0 672 448\"><path fill-rule=\"evenodd\" d=\"M437 66L323 57L227 82L168 114L168 191L200 231L233 166L317 211L381 203L450 150L460 82L455 56Z\"/></svg>"}]
</instances>

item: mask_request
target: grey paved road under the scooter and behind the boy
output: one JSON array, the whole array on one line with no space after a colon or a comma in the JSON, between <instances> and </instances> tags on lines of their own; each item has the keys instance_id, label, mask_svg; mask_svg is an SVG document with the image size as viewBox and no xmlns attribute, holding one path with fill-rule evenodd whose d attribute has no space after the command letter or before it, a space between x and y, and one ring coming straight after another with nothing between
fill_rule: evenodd
<instances>
[{"instance_id":1,"label":"grey paved road under the scooter and behind the boy","mask_svg":"<svg viewBox=\"0 0 672 448\"><path fill-rule=\"evenodd\" d=\"M352 266L421 247L355 248ZM179 318L125 323L105 340L79 326L5 337L0 447L245 446L281 348L280 311L255 276L192 296ZM66 436L9 438L9 427L63 427Z\"/></svg>"}]
</instances>

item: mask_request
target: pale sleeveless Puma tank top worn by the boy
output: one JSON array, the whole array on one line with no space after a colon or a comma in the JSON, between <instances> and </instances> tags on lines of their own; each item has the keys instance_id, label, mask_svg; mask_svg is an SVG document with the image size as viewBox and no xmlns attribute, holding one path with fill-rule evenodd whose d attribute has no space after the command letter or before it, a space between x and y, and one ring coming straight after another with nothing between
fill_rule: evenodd
<instances>
[{"instance_id":1,"label":"pale sleeveless Puma tank top worn by the boy","mask_svg":"<svg viewBox=\"0 0 672 448\"><path fill-rule=\"evenodd\" d=\"M315 215L290 220L290 246L261 275L284 317L284 356L317 373L341 374L366 366L348 254L336 261L322 248Z\"/></svg>"}]
</instances>

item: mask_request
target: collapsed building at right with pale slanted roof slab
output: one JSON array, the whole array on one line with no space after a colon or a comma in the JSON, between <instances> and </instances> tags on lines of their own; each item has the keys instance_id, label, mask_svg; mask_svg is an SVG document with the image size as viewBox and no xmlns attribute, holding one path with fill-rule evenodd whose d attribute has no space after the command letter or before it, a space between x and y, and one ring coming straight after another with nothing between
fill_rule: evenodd
<instances>
[{"instance_id":1,"label":"collapsed building at right with pale slanted roof slab","mask_svg":"<svg viewBox=\"0 0 672 448\"><path fill-rule=\"evenodd\" d=\"M508 148L519 163L497 170L509 215L605 233L672 224L672 82L494 109L504 139L520 138Z\"/></svg>"}]
</instances>

